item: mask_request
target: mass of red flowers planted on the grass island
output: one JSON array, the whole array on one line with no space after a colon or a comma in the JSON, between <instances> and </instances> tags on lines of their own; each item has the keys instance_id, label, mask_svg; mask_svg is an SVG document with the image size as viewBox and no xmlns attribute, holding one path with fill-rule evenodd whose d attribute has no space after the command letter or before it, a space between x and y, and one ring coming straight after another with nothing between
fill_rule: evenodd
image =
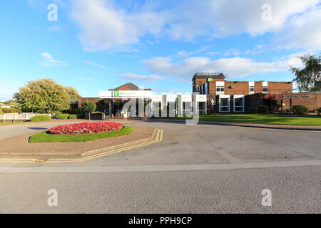
<instances>
[{"instance_id":1,"label":"mass of red flowers planted on the grass island","mask_svg":"<svg viewBox=\"0 0 321 228\"><path fill-rule=\"evenodd\" d=\"M73 123L58 125L54 128L50 128L49 132L54 135L76 135L108 132L121 130L122 128L123 124L114 122Z\"/></svg>"}]
</instances>

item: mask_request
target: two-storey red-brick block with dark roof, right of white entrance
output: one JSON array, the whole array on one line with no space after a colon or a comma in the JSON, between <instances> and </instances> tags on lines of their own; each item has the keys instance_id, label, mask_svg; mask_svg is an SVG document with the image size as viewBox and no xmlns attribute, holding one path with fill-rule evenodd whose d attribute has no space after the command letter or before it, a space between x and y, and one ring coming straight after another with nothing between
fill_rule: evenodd
<instances>
[{"instance_id":1,"label":"two-storey red-brick block with dark roof, right of white entrance","mask_svg":"<svg viewBox=\"0 0 321 228\"><path fill-rule=\"evenodd\" d=\"M258 105L278 110L281 95L292 93L292 82L226 81L223 73L195 73L192 82L193 93L207 95L207 113L250 112Z\"/></svg>"}]
</instances>

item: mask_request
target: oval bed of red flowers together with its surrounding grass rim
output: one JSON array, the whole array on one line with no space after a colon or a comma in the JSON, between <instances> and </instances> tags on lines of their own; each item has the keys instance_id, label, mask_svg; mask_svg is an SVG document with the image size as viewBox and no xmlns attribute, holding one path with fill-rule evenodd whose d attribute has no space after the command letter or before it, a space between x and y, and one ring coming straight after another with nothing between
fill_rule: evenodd
<instances>
[{"instance_id":1,"label":"oval bed of red flowers together with its surrounding grass rim","mask_svg":"<svg viewBox=\"0 0 321 228\"><path fill-rule=\"evenodd\" d=\"M32 135L29 142L86 142L129 135L134 129L113 122L58 125L50 130Z\"/></svg>"}]
</instances>

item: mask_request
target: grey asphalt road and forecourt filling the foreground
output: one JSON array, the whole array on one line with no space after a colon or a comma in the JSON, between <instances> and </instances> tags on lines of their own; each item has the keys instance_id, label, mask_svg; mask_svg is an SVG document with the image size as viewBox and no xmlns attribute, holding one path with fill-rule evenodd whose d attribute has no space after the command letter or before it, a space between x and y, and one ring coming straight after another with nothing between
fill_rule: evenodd
<instances>
[{"instance_id":1,"label":"grey asphalt road and forecourt filling the foreground","mask_svg":"<svg viewBox=\"0 0 321 228\"><path fill-rule=\"evenodd\" d=\"M0 212L321 212L320 132L128 125L162 128L163 141L86 162L0 163ZM0 138L46 127L1 126ZM57 207L47 204L50 189Z\"/></svg>"}]
</instances>

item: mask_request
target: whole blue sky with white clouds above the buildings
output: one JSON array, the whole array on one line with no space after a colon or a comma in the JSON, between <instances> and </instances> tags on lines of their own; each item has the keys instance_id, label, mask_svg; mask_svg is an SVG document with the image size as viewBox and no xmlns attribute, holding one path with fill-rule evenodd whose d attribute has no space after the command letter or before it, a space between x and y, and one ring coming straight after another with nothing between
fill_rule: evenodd
<instances>
[{"instance_id":1,"label":"whole blue sky with white clouds above the buildings","mask_svg":"<svg viewBox=\"0 0 321 228\"><path fill-rule=\"evenodd\" d=\"M39 78L83 97L128 82L190 92L196 72L292 81L321 50L320 0L15 0L0 19L0 100Z\"/></svg>"}]
</instances>

